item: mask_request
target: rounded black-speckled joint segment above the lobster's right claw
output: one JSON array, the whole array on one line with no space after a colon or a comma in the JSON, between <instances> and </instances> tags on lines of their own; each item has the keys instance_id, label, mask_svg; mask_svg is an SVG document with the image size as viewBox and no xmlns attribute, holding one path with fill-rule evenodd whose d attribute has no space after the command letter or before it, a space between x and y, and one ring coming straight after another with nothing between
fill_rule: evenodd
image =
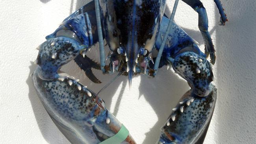
<instances>
[{"instance_id":1,"label":"rounded black-speckled joint segment above the lobster's right claw","mask_svg":"<svg viewBox=\"0 0 256 144\"><path fill-rule=\"evenodd\" d=\"M184 52L174 59L173 68L182 78L192 84L195 94L207 95L208 85L213 80L213 73L209 62L204 57L194 52Z\"/></svg>"}]
</instances>

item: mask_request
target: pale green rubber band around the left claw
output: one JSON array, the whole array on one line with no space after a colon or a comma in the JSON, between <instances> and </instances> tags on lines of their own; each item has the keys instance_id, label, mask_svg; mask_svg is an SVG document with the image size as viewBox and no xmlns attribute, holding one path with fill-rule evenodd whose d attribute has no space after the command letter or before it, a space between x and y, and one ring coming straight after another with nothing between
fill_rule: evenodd
<instances>
[{"instance_id":1,"label":"pale green rubber band around the left claw","mask_svg":"<svg viewBox=\"0 0 256 144\"><path fill-rule=\"evenodd\" d=\"M121 144L129 135L129 131L126 129L124 125L122 125L121 129L117 134L113 137L110 137L99 144Z\"/></svg>"}]
</instances>

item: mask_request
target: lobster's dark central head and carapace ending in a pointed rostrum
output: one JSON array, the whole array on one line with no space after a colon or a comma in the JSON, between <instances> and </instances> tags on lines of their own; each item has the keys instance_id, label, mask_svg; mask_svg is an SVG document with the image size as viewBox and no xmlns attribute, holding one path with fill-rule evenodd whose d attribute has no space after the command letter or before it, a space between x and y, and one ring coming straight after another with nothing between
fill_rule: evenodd
<instances>
[{"instance_id":1,"label":"lobster's dark central head and carapace ending in a pointed rostrum","mask_svg":"<svg viewBox=\"0 0 256 144\"><path fill-rule=\"evenodd\" d=\"M106 41L112 54L122 55L131 87L132 76L149 68L165 0L100 0L100 7Z\"/></svg>"}]
</instances>

